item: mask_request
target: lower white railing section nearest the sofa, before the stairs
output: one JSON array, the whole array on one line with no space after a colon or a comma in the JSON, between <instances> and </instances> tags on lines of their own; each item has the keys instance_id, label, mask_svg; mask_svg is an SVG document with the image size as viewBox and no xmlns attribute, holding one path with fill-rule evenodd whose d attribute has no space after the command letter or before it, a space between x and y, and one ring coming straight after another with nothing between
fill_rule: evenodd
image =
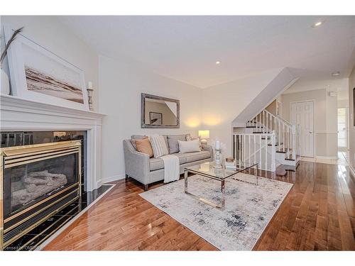
<instances>
[{"instance_id":1,"label":"lower white railing section nearest the sofa, before the stairs","mask_svg":"<svg viewBox=\"0 0 355 266\"><path fill-rule=\"evenodd\" d=\"M275 147L275 132L233 134L234 159L258 163L261 170L275 172Z\"/></svg>"}]
</instances>

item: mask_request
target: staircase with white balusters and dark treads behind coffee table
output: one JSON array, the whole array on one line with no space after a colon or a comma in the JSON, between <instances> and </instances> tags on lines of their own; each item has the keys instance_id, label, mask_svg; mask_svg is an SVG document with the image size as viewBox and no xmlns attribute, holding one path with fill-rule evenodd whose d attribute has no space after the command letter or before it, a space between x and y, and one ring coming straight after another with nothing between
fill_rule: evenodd
<instances>
[{"instance_id":1,"label":"staircase with white balusters and dark treads behind coffee table","mask_svg":"<svg viewBox=\"0 0 355 266\"><path fill-rule=\"evenodd\" d=\"M261 111L244 127L234 128L234 159L258 163L262 170L275 172L284 165L295 170L300 160L300 134L296 126L267 110Z\"/></svg>"}]
</instances>

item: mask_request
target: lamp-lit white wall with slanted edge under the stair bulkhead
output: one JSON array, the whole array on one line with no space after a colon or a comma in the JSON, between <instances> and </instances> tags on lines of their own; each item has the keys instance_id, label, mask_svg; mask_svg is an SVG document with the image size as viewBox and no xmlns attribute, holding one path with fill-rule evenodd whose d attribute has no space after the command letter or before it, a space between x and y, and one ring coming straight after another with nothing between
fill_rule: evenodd
<instances>
[{"instance_id":1,"label":"lamp-lit white wall with slanted edge under the stair bulkhead","mask_svg":"<svg viewBox=\"0 0 355 266\"><path fill-rule=\"evenodd\" d=\"M279 69L261 72L203 89L202 123L210 131L209 143L219 138L225 147L224 155L231 155L232 121L279 73Z\"/></svg>"}]
</instances>

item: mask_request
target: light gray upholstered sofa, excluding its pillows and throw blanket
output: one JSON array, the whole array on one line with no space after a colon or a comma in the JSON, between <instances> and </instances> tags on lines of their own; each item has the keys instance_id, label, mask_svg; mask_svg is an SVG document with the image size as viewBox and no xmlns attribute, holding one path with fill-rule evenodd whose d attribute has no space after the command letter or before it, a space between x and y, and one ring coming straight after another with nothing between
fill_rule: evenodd
<instances>
[{"instance_id":1,"label":"light gray upholstered sofa, excluding its pillows and throw blanket","mask_svg":"<svg viewBox=\"0 0 355 266\"><path fill-rule=\"evenodd\" d=\"M172 151L173 144L168 138L175 138L182 135L163 135L168 150ZM133 135L134 138L143 138L141 135ZM139 153L133 146L131 140L124 140L124 165L126 167L126 179L132 177L144 185L144 190L148 190L148 184L158 182L164 179L164 162L160 158L150 158L146 153ZM187 166L198 165L203 162L211 162L213 160L212 146L202 145L202 151L195 153L170 153L179 157L180 174L184 172Z\"/></svg>"}]
</instances>

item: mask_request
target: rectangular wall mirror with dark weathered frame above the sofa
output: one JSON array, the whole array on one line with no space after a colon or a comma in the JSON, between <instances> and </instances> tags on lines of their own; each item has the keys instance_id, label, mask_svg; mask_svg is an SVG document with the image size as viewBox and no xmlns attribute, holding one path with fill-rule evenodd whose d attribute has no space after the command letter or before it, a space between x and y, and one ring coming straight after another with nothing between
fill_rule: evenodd
<instances>
[{"instance_id":1,"label":"rectangular wall mirror with dark weathered frame above the sofa","mask_svg":"<svg viewBox=\"0 0 355 266\"><path fill-rule=\"evenodd\" d=\"M142 94L141 128L180 128L180 101Z\"/></svg>"}]
</instances>

